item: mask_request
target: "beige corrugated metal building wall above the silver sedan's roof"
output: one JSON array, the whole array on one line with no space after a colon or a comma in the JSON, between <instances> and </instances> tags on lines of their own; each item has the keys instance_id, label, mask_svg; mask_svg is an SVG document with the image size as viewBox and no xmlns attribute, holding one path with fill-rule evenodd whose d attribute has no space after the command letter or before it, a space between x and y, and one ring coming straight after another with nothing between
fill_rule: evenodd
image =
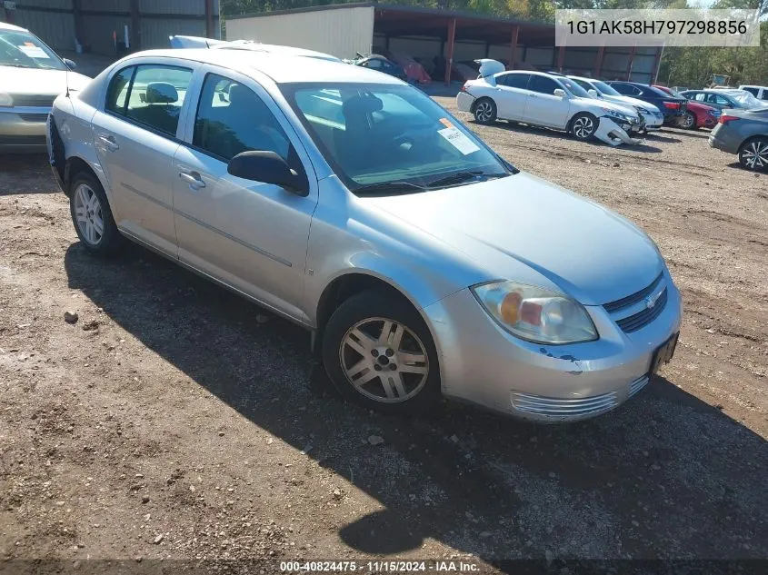
<instances>
[{"instance_id":1,"label":"beige corrugated metal building wall above the silver sedan's roof","mask_svg":"<svg viewBox=\"0 0 768 575\"><path fill-rule=\"evenodd\" d=\"M227 40L290 45L339 58L353 58L355 52L371 52L373 38L373 7L261 15L226 21Z\"/></svg>"}]
</instances>

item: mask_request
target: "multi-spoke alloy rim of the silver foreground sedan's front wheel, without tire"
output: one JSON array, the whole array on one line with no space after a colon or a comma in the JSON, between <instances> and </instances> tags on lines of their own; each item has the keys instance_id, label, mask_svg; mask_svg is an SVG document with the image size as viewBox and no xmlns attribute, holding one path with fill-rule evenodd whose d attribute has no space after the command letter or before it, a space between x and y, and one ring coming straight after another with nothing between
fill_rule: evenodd
<instances>
[{"instance_id":1,"label":"multi-spoke alloy rim of the silver foreground sedan's front wheel, without tire","mask_svg":"<svg viewBox=\"0 0 768 575\"><path fill-rule=\"evenodd\" d=\"M421 392L429 359L419 337L405 325L369 318L352 326L339 348L344 374L374 402L406 402Z\"/></svg>"}]
</instances>

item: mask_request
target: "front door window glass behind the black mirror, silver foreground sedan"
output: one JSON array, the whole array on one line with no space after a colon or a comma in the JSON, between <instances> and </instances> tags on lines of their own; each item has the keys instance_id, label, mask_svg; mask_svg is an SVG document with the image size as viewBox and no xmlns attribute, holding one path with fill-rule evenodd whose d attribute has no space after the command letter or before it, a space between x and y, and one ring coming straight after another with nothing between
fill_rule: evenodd
<instances>
[{"instance_id":1,"label":"front door window glass behind the black mirror, silver foreground sedan","mask_svg":"<svg viewBox=\"0 0 768 575\"><path fill-rule=\"evenodd\" d=\"M249 150L289 162L291 144L264 101L244 84L208 74L194 118L193 145L228 162Z\"/></svg>"}]
</instances>

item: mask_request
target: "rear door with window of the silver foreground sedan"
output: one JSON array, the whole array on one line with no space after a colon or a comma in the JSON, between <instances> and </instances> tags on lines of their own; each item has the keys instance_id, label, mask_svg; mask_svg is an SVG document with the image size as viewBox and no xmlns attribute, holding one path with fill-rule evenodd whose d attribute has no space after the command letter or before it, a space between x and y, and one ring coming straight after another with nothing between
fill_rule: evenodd
<instances>
[{"instance_id":1,"label":"rear door with window of the silver foreground sedan","mask_svg":"<svg viewBox=\"0 0 768 575\"><path fill-rule=\"evenodd\" d=\"M194 63L144 60L115 71L94 114L94 144L117 226L176 255L173 164Z\"/></svg>"}]
</instances>

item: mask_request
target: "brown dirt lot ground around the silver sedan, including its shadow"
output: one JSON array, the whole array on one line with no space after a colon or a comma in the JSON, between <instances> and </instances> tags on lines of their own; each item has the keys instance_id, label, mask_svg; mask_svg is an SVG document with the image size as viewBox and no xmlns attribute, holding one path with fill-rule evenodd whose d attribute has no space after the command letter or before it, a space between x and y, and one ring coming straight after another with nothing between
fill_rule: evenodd
<instances>
[{"instance_id":1,"label":"brown dirt lot ground around the silver sedan, including its shadow","mask_svg":"<svg viewBox=\"0 0 768 575\"><path fill-rule=\"evenodd\" d=\"M653 236L684 300L661 376L567 426L358 409L294 325L138 247L89 257L45 157L5 157L0 558L768 560L768 174L703 132L473 128Z\"/></svg>"}]
</instances>

